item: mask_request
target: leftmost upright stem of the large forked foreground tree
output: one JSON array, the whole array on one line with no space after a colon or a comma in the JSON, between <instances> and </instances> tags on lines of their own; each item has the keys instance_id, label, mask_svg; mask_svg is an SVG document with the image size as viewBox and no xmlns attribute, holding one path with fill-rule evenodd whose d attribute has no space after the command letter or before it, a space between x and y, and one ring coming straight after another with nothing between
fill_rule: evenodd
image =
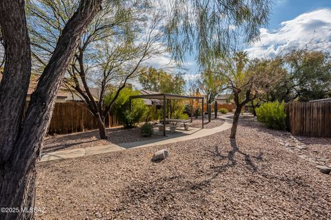
<instances>
[{"instance_id":1,"label":"leftmost upright stem of the large forked foreground tree","mask_svg":"<svg viewBox=\"0 0 331 220\"><path fill-rule=\"evenodd\" d=\"M0 83L1 168L12 154L13 146L19 135L30 82L30 39L28 28L26 28L23 0L1 1L0 26L6 54L5 69Z\"/></svg>"}]
</instances>

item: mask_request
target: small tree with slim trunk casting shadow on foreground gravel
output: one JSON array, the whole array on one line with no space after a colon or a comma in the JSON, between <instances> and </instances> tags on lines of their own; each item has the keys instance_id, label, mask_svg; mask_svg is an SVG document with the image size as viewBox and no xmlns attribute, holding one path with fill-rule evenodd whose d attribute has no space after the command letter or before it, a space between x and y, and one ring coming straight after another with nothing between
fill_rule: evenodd
<instances>
[{"instance_id":1,"label":"small tree with slim trunk casting shadow on foreground gravel","mask_svg":"<svg viewBox=\"0 0 331 220\"><path fill-rule=\"evenodd\" d=\"M234 52L230 57L221 58L214 66L214 72L224 79L225 89L232 91L236 104L230 138L236 137L239 115L245 104L272 89L280 78L281 72L271 74L269 65L249 62L246 52Z\"/></svg>"}]
</instances>

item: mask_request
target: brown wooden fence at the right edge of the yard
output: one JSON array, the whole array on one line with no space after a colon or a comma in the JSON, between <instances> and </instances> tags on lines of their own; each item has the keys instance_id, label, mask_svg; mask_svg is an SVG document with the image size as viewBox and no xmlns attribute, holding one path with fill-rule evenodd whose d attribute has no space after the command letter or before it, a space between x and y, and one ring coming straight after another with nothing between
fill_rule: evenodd
<instances>
[{"instance_id":1,"label":"brown wooden fence at the right edge of the yard","mask_svg":"<svg viewBox=\"0 0 331 220\"><path fill-rule=\"evenodd\" d=\"M285 110L292 135L331 137L331 102L292 102Z\"/></svg>"}]
</instances>

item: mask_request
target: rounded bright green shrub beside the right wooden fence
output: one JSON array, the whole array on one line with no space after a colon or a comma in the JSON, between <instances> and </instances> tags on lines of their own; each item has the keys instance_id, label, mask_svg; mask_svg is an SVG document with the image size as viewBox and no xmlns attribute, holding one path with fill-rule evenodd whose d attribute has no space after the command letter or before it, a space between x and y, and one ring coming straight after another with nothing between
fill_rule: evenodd
<instances>
[{"instance_id":1,"label":"rounded bright green shrub beside the right wooden fence","mask_svg":"<svg viewBox=\"0 0 331 220\"><path fill-rule=\"evenodd\" d=\"M256 109L257 120L270 129L286 129L285 102L266 102Z\"/></svg>"}]
</instances>

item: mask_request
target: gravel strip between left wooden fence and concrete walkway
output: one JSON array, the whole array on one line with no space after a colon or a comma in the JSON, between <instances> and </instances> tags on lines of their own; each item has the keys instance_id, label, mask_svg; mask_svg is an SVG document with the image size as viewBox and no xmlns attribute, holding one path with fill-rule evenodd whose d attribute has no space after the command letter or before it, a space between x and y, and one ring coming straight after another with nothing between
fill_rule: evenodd
<instances>
[{"instance_id":1,"label":"gravel strip between left wooden fence and concrete walkway","mask_svg":"<svg viewBox=\"0 0 331 220\"><path fill-rule=\"evenodd\" d=\"M133 129L123 129L122 127L110 128L107 129L107 136L108 140L100 140L99 130L70 133L68 135L49 135L43 142L43 153L161 138L159 135L143 137L139 127Z\"/></svg>"}]
</instances>

